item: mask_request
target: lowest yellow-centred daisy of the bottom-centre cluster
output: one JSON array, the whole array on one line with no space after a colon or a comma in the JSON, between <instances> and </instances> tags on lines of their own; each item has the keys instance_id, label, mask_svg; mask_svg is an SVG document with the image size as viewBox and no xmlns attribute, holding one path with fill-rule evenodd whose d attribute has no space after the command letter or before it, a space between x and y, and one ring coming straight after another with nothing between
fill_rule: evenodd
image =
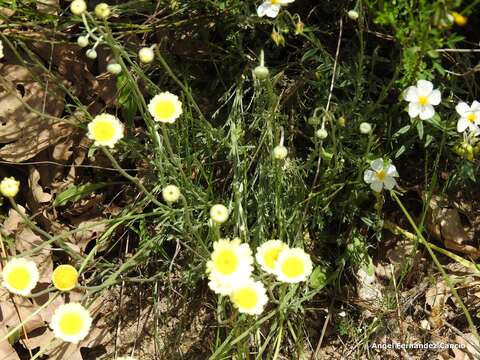
<instances>
[{"instance_id":1,"label":"lowest yellow-centred daisy of the bottom-centre cluster","mask_svg":"<svg viewBox=\"0 0 480 360\"><path fill-rule=\"evenodd\" d=\"M239 312L260 315L268 302L267 290L260 281L247 279L234 286L230 300Z\"/></svg>"}]
</instances>

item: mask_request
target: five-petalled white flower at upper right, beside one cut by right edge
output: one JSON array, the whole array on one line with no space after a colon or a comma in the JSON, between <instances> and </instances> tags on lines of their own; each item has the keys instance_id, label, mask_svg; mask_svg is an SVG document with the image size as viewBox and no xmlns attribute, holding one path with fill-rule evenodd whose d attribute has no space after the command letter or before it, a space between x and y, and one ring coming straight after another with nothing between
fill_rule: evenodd
<instances>
[{"instance_id":1,"label":"five-petalled white flower at upper right, beside one cut by right edge","mask_svg":"<svg viewBox=\"0 0 480 360\"><path fill-rule=\"evenodd\" d=\"M417 86L408 87L403 98L408 101L408 115L413 119L417 116L422 120L431 119L435 115L434 106L440 104L440 90L434 90L433 84L427 80L418 80Z\"/></svg>"}]
</instances>

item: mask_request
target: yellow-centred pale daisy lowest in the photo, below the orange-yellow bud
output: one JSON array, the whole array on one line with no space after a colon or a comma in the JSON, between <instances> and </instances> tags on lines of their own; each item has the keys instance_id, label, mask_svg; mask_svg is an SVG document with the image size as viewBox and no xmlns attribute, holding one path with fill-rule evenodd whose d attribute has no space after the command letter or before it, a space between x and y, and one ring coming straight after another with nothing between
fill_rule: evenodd
<instances>
[{"instance_id":1,"label":"yellow-centred pale daisy lowest in the photo, below the orange-yellow bud","mask_svg":"<svg viewBox=\"0 0 480 360\"><path fill-rule=\"evenodd\" d=\"M77 344L90 331L92 317L79 303L60 305L52 316L50 327L56 338Z\"/></svg>"}]
</instances>

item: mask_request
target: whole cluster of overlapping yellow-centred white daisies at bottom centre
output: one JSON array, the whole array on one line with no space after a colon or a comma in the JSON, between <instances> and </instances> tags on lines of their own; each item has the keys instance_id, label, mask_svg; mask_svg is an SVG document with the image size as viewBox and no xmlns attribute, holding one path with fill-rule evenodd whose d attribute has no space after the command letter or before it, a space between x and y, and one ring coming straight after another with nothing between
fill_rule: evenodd
<instances>
[{"instance_id":1,"label":"whole cluster of overlapping yellow-centred white daisies at bottom centre","mask_svg":"<svg viewBox=\"0 0 480 360\"><path fill-rule=\"evenodd\" d=\"M306 281L312 272L310 256L280 240L259 246L255 259L263 271L285 283ZM259 315L268 296L265 285L252 278L253 262L250 246L240 239L216 241L207 263L208 285L215 293L229 296L239 312Z\"/></svg>"}]
</instances>

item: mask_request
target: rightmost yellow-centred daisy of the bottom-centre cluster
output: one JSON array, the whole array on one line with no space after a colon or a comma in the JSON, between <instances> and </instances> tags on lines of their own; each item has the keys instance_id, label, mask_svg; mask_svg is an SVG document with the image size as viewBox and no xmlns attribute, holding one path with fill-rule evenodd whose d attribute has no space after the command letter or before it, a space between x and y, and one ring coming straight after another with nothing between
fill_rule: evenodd
<instances>
[{"instance_id":1,"label":"rightmost yellow-centred daisy of the bottom-centre cluster","mask_svg":"<svg viewBox=\"0 0 480 360\"><path fill-rule=\"evenodd\" d=\"M312 273L312 260L303 249L286 248L278 255L275 263L277 279L286 283L306 281Z\"/></svg>"}]
</instances>

